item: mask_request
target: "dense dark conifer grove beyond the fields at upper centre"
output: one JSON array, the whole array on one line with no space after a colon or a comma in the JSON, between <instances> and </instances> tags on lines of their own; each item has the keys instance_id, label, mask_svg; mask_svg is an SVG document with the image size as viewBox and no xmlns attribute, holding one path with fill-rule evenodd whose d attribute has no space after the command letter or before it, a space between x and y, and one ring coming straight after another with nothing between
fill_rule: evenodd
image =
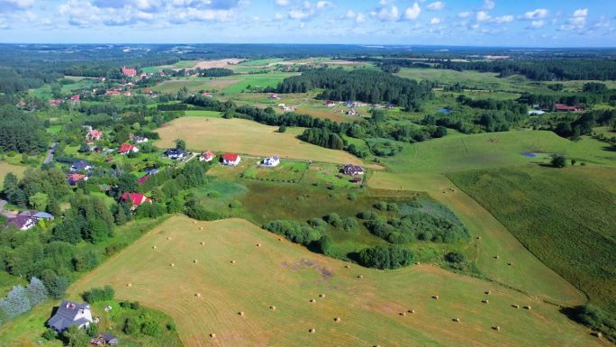
<instances>
[{"instance_id":1,"label":"dense dark conifer grove beyond the fields at upper centre","mask_svg":"<svg viewBox=\"0 0 616 347\"><path fill-rule=\"evenodd\" d=\"M285 78L276 91L304 93L314 88L325 89L317 98L325 100L358 100L369 104L392 103L407 111L420 109L421 103L432 96L430 81L417 82L398 78L389 73L370 69L345 70L318 68L302 75Z\"/></svg>"}]
</instances>

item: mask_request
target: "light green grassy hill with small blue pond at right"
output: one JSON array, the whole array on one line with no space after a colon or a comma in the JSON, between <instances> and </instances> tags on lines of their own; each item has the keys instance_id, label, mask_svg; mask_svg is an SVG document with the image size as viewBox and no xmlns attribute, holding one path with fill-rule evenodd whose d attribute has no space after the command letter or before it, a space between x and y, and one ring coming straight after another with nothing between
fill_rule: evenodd
<instances>
[{"instance_id":1,"label":"light green grassy hill with small blue pond at right","mask_svg":"<svg viewBox=\"0 0 616 347\"><path fill-rule=\"evenodd\" d=\"M545 131L455 133L427 142L401 145L403 151L381 159L385 166L398 173L443 173L548 162L548 159L521 155L526 151L560 153L578 162L616 166L616 152L609 151L605 142L588 137L572 142Z\"/></svg>"}]
</instances>

